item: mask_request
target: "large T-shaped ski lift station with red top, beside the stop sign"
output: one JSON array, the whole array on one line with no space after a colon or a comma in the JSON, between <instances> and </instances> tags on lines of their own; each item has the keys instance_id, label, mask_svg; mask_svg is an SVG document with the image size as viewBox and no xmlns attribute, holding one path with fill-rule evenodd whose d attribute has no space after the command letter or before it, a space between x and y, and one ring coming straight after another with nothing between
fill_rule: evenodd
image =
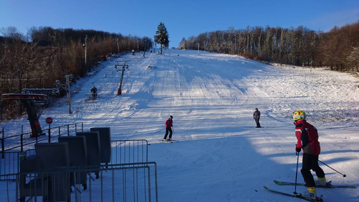
<instances>
[{"instance_id":1,"label":"large T-shaped ski lift station with red top, beside the stop sign","mask_svg":"<svg viewBox=\"0 0 359 202\"><path fill-rule=\"evenodd\" d=\"M2 100L20 100L27 110L28 120L31 126L31 136L38 137L45 135L41 130L39 118L43 109L48 105L48 100L52 94L59 93L56 88L53 89L28 89L24 88L21 93L2 94Z\"/></svg>"}]
</instances>

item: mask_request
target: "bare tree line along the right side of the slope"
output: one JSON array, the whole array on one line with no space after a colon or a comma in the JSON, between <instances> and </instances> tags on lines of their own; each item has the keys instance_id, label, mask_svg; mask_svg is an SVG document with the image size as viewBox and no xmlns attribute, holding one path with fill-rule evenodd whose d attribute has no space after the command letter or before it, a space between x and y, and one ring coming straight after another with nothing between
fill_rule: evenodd
<instances>
[{"instance_id":1,"label":"bare tree line along the right side of the slope","mask_svg":"<svg viewBox=\"0 0 359 202\"><path fill-rule=\"evenodd\" d=\"M258 61L299 66L328 66L356 71L359 66L359 21L329 32L306 27L247 27L217 30L182 38L178 49L239 55Z\"/></svg>"}]
</instances>

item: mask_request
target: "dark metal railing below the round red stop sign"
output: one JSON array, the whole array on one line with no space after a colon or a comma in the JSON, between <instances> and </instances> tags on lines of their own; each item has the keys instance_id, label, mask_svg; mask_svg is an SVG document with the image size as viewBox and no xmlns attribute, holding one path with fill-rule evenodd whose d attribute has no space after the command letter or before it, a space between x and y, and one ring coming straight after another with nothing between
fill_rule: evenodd
<instances>
[{"instance_id":1,"label":"dark metal railing below the round red stop sign","mask_svg":"<svg viewBox=\"0 0 359 202\"><path fill-rule=\"evenodd\" d=\"M60 135L69 136L71 133L76 133L78 131L83 132L83 123L82 122L81 123L72 123L72 124L59 126L59 127L53 127L53 128L50 127L50 128L47 128L47 129L43 129L42 131L47 132L47 136L36 137L36 140L33 141L32 138L24 138L24 136L26 136L26 135L30 136L31 132L21 133L19 135L13 135L13 136L5 137L4 128L3 128L2 137L0 138L1 139L1 158L2 159L5 158L5 151L17 149L19 147L20 147L20 151L23 151L24 146L27 146L27 145L35 144L35 143L42 142L42 141L45 141L45 140L47 140L50 143L51 138L58 137ZM10 140L11 138L14 139L14 138L18 138L18 137L20 137L20 145L15 144L15 145L12 145L12 146L9 146L9 147L5 148L5 140Z\"/></svg>"}]
</instances>

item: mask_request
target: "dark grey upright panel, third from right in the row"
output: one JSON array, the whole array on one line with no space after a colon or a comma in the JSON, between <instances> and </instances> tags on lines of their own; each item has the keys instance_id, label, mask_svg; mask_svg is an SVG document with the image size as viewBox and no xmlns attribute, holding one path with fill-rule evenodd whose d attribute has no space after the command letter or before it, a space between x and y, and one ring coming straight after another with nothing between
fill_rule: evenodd
<instances>
[{"instance_id":1,"label":"dark grey upright panel, third from right in the row","mask_svg":"<svg viewBox=\"0 0 359 202\"><path fill-rule=\"evenodd\" d=\"M87 166L87 148L85 136L64 136L58 138L59 142L67 142L69 146L70 166ZM76 184L87 184L86 172L75 172ZM72 184L75 184L71 176Z\"/></svg>"}]
</instances>

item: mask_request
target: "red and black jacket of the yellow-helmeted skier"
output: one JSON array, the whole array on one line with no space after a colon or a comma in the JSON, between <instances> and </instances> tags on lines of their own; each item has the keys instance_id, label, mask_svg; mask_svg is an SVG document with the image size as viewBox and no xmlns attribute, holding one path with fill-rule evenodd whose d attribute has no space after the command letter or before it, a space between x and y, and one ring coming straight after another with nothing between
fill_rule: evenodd
<instances>
[{"instance_id":1,"label":"red and black jacket of the yellow-helmeted skier","mask_svg":"<svg viewBox=\"0 0 359 202\"><path fill-rule=\"evenodd\" d=\"M298 140L297 147L302 148L303 153L320 154L317 128L307 123L306 120L299 120L295 123L295 136Z\"/></svg>"}]
</instances>

